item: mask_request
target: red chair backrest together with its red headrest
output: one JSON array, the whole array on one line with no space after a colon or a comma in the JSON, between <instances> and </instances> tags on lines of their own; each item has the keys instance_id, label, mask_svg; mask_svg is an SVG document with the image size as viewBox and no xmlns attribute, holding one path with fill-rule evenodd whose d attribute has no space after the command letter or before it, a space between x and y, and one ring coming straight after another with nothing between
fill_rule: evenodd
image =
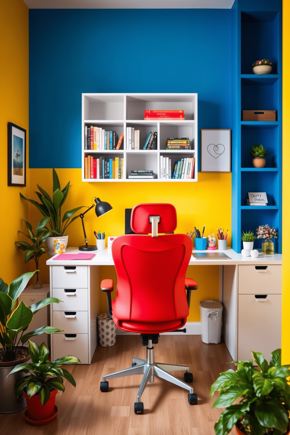
<instances>
[{"instance_id":1,"label":"red chair backrest together with its red headrest","mask_svg":"<svg viewBox=\"0 0 290 435\"><path fill-rule=\"evenodd\" d=\"M172 204L138 204L131 214L133 231L151 233L150 216L159 216L158 230L175 230ZM191 253L192 241L186 234L117 237L112 244L118 279L114 317L143 322L186 318L184 280Z\"/></svg>"}]
</instances>

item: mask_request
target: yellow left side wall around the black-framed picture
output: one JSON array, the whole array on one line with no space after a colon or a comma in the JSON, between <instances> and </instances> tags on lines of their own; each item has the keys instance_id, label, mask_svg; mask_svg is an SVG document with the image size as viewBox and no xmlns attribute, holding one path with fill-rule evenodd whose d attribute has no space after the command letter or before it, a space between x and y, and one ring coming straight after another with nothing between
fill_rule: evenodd
<instances>
[{"instance_id":1,"label":"yellow left side wall around the black-framed picture","mask_svg":"<svg viewBox=\"0 0 290 435\"><path fill-rule=\"evenodd\" d=\"M27 270L14 242L23 228L21 218L28 218L19 192L28 194L29 172L27 187L7 187L7 123L26 129L28 156L28 7L23 0L1 1L0 17L0 277L10 283Z\"/></svg>"}]
</instances>

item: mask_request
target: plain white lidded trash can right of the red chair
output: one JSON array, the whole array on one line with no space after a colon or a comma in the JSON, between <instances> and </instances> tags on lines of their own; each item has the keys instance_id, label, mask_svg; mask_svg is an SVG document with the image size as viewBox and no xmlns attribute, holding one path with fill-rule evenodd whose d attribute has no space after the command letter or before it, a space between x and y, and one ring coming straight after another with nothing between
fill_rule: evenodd
<instances>
[{"instance_id":1,"label":"plain white lidded trash can right of the red chair","mask_svg":"<svg viewBox=\"0 0 290 435\"><path fill-rule=\"evenodd\" d=\"M201 340L203 343L219 343L223 305L219 301L200 301Z\"/></svg>"}]
</instances>

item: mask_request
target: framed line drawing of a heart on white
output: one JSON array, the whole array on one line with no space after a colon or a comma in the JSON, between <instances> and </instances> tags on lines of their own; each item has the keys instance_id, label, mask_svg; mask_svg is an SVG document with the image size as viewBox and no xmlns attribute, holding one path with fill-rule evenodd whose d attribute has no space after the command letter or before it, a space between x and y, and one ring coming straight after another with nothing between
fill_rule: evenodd
<instances>
[{"instance_id":1,"label":"framed line drawing of a heart on white","mask_svg":"<svg viewBox=\"0 0 290 435\"><path fill-rule=\"evenodd\" d=\"M201 129L201 172L230 172L230 129Z\"/></svg>"}]
</instances>

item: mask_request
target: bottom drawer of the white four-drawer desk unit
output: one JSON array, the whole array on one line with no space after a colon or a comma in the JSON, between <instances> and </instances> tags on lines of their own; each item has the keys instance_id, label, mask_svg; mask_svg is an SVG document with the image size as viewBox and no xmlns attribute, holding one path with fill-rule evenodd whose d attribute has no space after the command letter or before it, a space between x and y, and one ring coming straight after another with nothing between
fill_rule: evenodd
<instances>
[{"instance_id":1,"label":"bottom drawer of the white four-drawer desk unit","mask_svg":"<svg viewBox=\"0 0 290 435\"><path fill-rule=\"evenodd\" d=\"M53 359L72 355L90 364L88 334L53 334Z\"/></svg>"}]
</instances>

